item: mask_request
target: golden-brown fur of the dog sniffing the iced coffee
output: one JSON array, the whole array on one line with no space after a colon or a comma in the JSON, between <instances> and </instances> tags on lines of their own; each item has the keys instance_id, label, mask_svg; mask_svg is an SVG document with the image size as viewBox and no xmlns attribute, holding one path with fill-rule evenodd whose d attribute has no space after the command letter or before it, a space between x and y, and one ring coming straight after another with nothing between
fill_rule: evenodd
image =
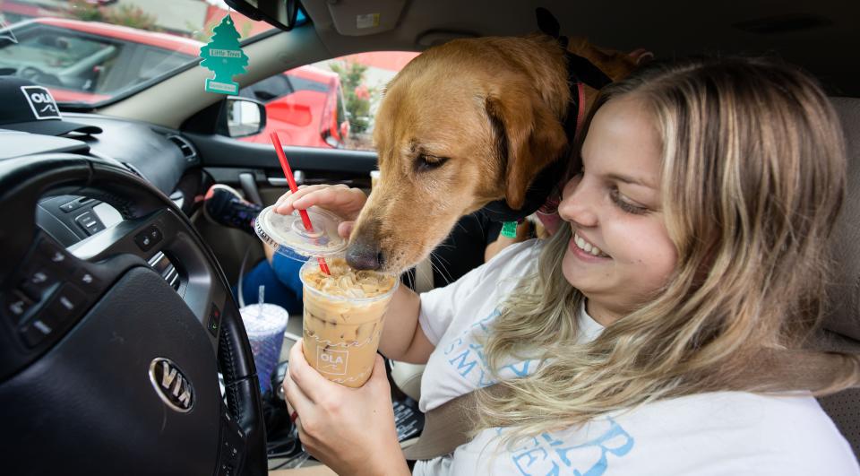
<instances>
[{"instance_id":1,"label":"golden-brown fur of the dog sniffing the iced coffee","mask_svg":"<svg viewBox=\"0 0 860 476\"><path fill-rule=\"evenodd\" d=\"M581 39L569 49L613 80L637 62ZM571 94L563 49L543 35L459 39L417 56L376 117L381 177L353 230L350 264L373 268L379 256L380 270L401 272L461 216L500 199L520 209L531 181L566 149ZM586 106L596 94L586 88Z\"/></svg>"}]
</instances>

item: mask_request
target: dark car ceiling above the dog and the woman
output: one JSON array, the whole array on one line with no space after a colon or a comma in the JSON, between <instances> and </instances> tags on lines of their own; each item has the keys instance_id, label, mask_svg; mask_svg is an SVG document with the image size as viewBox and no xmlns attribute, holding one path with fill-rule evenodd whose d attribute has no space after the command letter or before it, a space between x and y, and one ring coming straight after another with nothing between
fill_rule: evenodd
<instances>
[{"instance_id":1,"label":"dark car ceiling above the dog and the woman","mask_svg":"<svg viewBox=\"0 0 860 476\"><path fill-rule=\"evenodd\" d=\"M371 13L374 8L384 11L386 5L396 12L396 6L392 6L401 3L303 0L317 34L333 56L374 49L420 50L427 46L419 44L422 35L432 30L479 36L524 35L538 30L534 10L543 6L558 18L563 34L583 36L600 46L631 51L647 48L663 58L702 53L775 53L816 74L832 94L860 96L855 80L860 75L860 62L856 61L860 51L860 2L412 0L406 2L394 30L344 36L335 28L333 17L345 5L366 4L367 13ZM380 6L370 6L373 4ZM821 24L815 25L816 22ZM812 26L803 28L804 23ZM791 28L797 24L801 28ZM777 31L754 32L754 26Z\"/></svg>"}]
</instances>

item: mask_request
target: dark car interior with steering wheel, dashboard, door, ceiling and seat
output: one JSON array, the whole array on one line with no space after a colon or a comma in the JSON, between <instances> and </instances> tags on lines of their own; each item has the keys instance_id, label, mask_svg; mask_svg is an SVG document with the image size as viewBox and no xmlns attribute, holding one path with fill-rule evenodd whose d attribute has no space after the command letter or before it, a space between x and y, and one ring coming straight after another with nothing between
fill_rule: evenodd
<instances>
[{"instance_id":1,"label":"dark car interior with steering wheel, dashboard, door, ceiling and seat","mask_svg":"<svg viewBox=\"0 0 860 476\"><path fill-rule=\"evenodd\" d=\"M849 160L832 242L831 310L811 339L822 349L860 352L860 64L851 54L860 49L860 4L227 4L277 27L243 44L249 62L235 77L242 87L338 56L527 35L538 30L537 7L555 14L563 34L607 48L646 48L658 58L773 55L800 65L832 97ZM290 9L305 21L290 18ZM368 13L377 20L357 22ZM262 104L204 91L210 77L193 61L110 100L61 104L64 120L96 126L95 134L51 136L0 125L0 442L8 454L0 472L263 474L285 461L289 452L267 445L275 433L271 408L232 290L263 259L262 247L208 221L202 202L210 186L223 184L267 206L286 192L287 181L270 144L239 140L247 131L228 124L230 110L242 108L251 111L250 126L262 128ZM371 190L374 151L284 151L302 184ZM418 265L411 284L419 291L434 288L429 266ZM48 315L59 317L48 323ZM292 316L284 359L301 333L301 316ZM175 398L154 393L150 378L175 369ZM422 368L390 362L389 369L395 392L417 401ZM820 402L860 455L860 392ZM415 437L417 430L404 445ZM290 455L301 452L294 449Z\"/></svg>"}]
</instances>

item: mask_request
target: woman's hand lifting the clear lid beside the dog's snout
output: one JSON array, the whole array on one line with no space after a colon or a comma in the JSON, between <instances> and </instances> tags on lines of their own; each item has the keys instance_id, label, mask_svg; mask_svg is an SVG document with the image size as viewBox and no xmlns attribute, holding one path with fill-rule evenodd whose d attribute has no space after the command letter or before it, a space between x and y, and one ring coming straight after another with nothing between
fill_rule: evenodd
<instances>
[{"instance_id":1,"label":"woman's hand lifting the clear lid beside the dog's snout","mask_svg":"<svg viewBox=\"0 0 860 476\"><path fill-rule=\"evenodd\" d=\"M338 234L343 238L349 238L358 212L365 206L367 196L358 188L349 188L345 185L314 185L300 186L297 192L287 192L278 199L275 212L288 215L296 210L306 210L312 206L319 206L330 212L335 212L344 219L338 227Z\"/></svg>"}]
</instances>

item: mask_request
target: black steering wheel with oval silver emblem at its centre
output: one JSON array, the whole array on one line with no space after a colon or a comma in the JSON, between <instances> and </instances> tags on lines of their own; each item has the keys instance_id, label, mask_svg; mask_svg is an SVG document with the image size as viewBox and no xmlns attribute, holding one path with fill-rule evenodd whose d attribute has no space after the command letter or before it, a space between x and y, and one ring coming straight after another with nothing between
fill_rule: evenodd
<instances>
[{"instance_id":1,"label":"black steering wheel with oval silver emblem at its centre","mask_svg":"<svg viewBox=\"0 0 860 476\"><path fill-rule=\"evenodd\" d=\"M49 195L125 220L66 249L36 226ZM64 153L0 160L0 208L3 472L265 474L245 327L184 213L121 165ZM178 290L147 263L158 252Z\"/></svg>"}]
</instances>

